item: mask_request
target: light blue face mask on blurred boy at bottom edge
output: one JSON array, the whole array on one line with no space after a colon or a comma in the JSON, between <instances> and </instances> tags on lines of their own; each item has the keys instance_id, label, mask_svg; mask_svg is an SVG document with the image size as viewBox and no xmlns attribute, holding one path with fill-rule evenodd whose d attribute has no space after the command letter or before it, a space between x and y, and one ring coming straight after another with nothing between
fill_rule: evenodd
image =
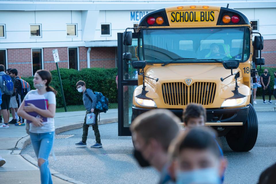
<instances>
[{"instance_id":1,"label":"light blue face mask on blurred boy at bottom edge","mask_svg":"<svg viewBox=\"0 0 276 184\"><path fill-rule=\"evenodd\" d=\"M216 168L197 169L192 171L177 171L176 184L220 184L221 177Z\"/></svg>"}]
</instances>

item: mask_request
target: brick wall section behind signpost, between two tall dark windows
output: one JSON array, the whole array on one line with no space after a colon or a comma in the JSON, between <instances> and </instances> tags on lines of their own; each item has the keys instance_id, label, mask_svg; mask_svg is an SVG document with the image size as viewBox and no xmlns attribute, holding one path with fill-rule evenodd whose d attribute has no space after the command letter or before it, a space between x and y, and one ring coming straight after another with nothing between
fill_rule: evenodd
<instances>
[{"instance_id":1,"label":"brick wall section behind signpost, between two tall dark windows","mask_svg":"<svg viewBox=\"0 0 276 184\"><path fill-rule=\"evenodd\" d=\"M68 47L50 47L43 48L43 60L45 70L56 70L56 64L54 62L52 50L57 49L60 62L58 62L59 68L68 68Z\"/></svg>"}]
</instances>

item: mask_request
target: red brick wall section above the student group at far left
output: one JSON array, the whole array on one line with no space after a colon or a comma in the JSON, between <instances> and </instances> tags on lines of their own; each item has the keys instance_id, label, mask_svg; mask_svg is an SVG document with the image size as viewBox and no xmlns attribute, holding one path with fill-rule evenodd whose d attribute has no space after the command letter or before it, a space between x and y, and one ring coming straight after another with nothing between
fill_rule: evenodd
<instances>
[{"instance_id":1,"label":"red brick wall section above the student group at far left","mask_svg":"<svg viewBox=\"0 0 276 184\"><path fill-rule=\"evenodd\" d=\"M31 49L7 49L7 58L7 68L16 68L19 76L32 75Z\"/></svg>"}]
</instances>

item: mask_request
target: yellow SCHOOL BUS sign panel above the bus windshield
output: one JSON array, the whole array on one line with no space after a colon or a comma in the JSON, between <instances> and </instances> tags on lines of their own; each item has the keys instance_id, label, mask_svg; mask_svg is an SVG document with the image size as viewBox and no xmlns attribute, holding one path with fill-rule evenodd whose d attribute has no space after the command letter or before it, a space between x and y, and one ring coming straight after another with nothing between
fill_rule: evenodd
<instances>
[{"instance_id":1,"label":"yellow SCHOOL BUS sign panel above the bus windshield","mask_svg":"<svg viewBox=\"0 0 276 184\"><path fill-rule=\"evenodd\" d=\"M171 22L214 22L217 11L172 11Z\"/></svg>"}]
</instances>

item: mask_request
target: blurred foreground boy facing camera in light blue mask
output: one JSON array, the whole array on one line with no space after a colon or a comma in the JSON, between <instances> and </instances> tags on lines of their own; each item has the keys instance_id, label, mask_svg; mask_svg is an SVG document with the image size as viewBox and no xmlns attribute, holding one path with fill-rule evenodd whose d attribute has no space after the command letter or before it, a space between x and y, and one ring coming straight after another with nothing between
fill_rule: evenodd
<instances>
[{"instance_id":1,"label":"blurred foreground boy facing camera in light blue mask","mask_svg":"<svg viewBox=\"0 0 276 184\"><path fill-rule=\"evenodd\" d=\"M220 184L227 162L208 127L182 132L170 145L170 169L177 184Z\"/></svg>"}]
</instances>

